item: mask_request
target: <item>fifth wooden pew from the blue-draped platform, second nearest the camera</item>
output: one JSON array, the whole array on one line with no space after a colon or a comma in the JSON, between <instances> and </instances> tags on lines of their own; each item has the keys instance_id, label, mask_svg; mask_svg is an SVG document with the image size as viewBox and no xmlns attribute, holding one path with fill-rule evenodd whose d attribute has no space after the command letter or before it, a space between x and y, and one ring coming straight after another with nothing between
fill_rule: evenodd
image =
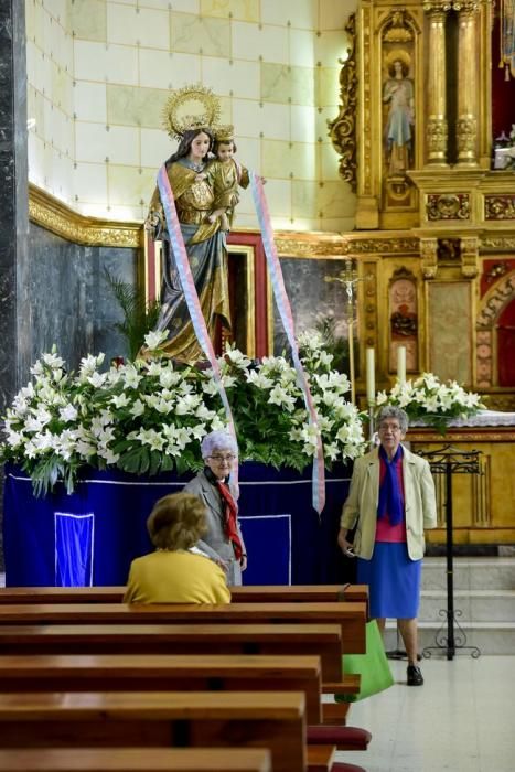
<instances>
[{"instance_id":1,"label":"fifth wooden pew from the blue-draped platform, second nearest the camera","mask_svg":"<svg viewBox=\"0 0 515 772\"><path fill-rule=\"evenodd\" d=\"M0 748L269 748L307 769L304 696L290 691L0 695Z\"/></svg>"}]
</instances>

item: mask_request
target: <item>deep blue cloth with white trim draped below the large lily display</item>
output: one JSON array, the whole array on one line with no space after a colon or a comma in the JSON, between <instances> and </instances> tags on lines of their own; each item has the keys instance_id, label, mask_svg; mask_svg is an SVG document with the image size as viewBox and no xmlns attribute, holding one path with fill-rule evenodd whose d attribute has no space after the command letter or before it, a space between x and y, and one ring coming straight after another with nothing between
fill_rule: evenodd
<instances>
[{"instance_id":1,"label":"deep blue cloth with white trim draped below the large lily display","mask_svg":"<svg viewBox=\"0 0 515 772\"><path fill-rule=\"evenodd\" d=\"M326 474L321 518L311 506L311 469L303 473L245 462L239 468L239 517L247 546L245 585L308 585L354 580L337 545L351 470ZM192 473L137 478L89 470L71 495L62 485L41 498L28 475L6 467L6 585L125 585L130 561L152 550L146 522L158 498L180 491Z\"/></svg>"}]
</instances>

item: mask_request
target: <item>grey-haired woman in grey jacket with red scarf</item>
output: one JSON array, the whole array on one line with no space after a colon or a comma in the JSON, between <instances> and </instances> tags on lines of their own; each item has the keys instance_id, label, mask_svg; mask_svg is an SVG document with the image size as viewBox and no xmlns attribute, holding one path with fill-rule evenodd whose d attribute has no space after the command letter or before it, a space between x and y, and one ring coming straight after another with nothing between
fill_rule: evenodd
<instances>
[{"instance_id":1,"label":"grey-haired woman in grey jacket with red scarf","mask_svg":"<svg viewBox=\"0 0 515 772\"><path fill-rule=\"evenodd\" d=\"M230 483L237 446L227 431L212 431L201 443L205 467L184 487L206 507L207 532L196 546L225 571L227 585L240 585L247 550L239 529L238 507Z\"/></svg>"}]
</instances>

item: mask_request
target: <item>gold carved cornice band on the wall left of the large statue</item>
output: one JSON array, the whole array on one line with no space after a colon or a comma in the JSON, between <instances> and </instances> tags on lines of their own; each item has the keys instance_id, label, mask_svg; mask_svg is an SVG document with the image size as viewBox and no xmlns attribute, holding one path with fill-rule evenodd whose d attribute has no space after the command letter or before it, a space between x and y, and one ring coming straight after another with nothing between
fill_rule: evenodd
<instances>
[{"instance_id":1,"label":"gold carved cornice band on the wall left of the large statue","mask_svg":"<svg viewBox=\"0 0 515 772\"><path fill-rule=\"evenodd\" d=\"M74 244L97 247L141 246L140 223L117 223L97 217L85 217L35 185L29 186L30 219Z\"/></svg>"}]
</instances>

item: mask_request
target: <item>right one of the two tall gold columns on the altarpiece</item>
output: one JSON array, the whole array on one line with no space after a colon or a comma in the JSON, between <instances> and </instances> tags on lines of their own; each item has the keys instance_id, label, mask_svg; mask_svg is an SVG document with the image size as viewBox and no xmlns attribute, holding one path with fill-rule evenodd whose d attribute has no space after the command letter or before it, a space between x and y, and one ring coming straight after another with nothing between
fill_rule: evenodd
<instances>
[{"instance_id":1,"label":"right one of the two tall gold columns on the altarpiece","mask_svg":"<svg viewBox=\"0 0 515 772\"><path fill-rule=\"evenodd\" d=\"M478 30L479 3L454 0L458 12L458 165L478 167Z\"/></svg>"}]
</instances>

